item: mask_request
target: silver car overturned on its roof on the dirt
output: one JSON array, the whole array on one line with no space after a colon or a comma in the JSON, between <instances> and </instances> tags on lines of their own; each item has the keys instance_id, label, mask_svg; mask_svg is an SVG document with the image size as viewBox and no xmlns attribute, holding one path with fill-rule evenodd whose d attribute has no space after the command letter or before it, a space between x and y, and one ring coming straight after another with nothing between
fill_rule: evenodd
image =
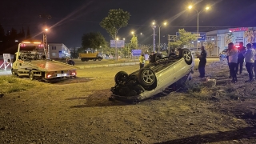
<instances>
[{"instance_id":1,"label":"silver car overturned on its roof on the dirt","mask_svg":"<svg viewBox=\"0 0 256 144\"><path fill-rule=\"evenodd\" d=\"M194 58L188 49L180 49L178 55L170 58L154 54L144 68L131 74L119 71L115 75L110 99L142 101L151 98L170 86L182 85L191 78L193 70Z\"/></svg>"}]
</instances>

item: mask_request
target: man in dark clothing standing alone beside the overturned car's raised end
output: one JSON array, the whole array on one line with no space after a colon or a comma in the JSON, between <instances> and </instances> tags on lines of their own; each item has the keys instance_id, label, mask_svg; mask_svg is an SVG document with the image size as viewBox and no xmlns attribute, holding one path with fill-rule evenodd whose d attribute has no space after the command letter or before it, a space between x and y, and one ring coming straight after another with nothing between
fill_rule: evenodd
<instances>
[{"instance_id":1,"label":"man in dark clothing standing alone beside the overturned car's raised end","mask_svg":"<svg viewBox=\"0 0 256 144\"><path fill-rule=\"evenodd\" d=\"M199 77L204 78L206 76L205 67L206 67L206 56L207 56L205 46L201 46L201 50L202 50L201 55L198 55L198 58L200 59L198 70L200 73Z\"/></svg>"}]
</instances>

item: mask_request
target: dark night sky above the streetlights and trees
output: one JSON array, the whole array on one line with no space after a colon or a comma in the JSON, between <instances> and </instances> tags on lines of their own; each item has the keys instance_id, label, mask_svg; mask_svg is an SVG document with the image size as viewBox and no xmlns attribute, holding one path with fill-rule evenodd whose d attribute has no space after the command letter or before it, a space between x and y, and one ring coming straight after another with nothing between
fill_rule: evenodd
<instances>
[{"instance_id":1,"label":"dark night sky above the streetlights and trees","mask_svg":"<svg viewBox=\"0 0 256 144\"><path fill-rule=\"evenodd\" d=\"M194 4L197 10L211 6L199 17L199 31L226 29L228 27L256 26L256 0L2 0L0 25L4 30L12 27L26 30L34 38L42 39L44 22L50 27L48 42L61 42L68 47L81 46L82 34L101 32L110 41L99 22L111 9L121 8L130 12L129 25L118 32L118 38L130 41L130 31L138 35L142 44L152 44L155 20L158 24L168 22L161 28L161 42L167 42L167 34L175 34L178 28L197 30L197 12L187 10ZM51 19L39 18L39 14L50 14ZM156 29L158 34L158 28ZM158 35L156 37L158 42Z\"/></svg>"}]
</instances>

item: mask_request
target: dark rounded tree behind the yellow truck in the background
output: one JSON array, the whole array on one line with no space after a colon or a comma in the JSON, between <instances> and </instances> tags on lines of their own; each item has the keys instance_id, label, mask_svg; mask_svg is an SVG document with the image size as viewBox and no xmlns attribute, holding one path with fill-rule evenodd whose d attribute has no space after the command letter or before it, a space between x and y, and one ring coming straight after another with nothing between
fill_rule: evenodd
<instances>
[{"instance_id":1,"label":"dark rounded tree behind the yellow truck in the background","mask_svg":"<svg viewBox=\"0 0 256 144\"><path fill-rule=\"evenodd\" d=\"M82 35L82 50L90 49L92 51L99 49L100 46L105 46L106 40L99 32Z\"/></svg>"}]
</instances>

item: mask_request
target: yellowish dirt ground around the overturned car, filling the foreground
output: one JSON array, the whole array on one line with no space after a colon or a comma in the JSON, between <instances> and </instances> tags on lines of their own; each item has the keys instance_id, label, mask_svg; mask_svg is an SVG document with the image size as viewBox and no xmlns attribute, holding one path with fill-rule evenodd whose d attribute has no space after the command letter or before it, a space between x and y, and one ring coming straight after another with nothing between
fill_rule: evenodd
<instances>
[{"instance_id":1,"label":"yellowish dirt ground around the overturned car, filling the foreground","mask_svg":"<svg viewBox=\"0 0 256 144\"><path fill-rule=\"evenodd\" d=\"M256 82L244 82L246 70L233 84L226 64L214 62L206 74L217 86L204 87L196 70L186 88L164 97L137 104L109 101L114 75L137 69L78 70L76 79L4 94L0 143L256 142Z\"/></svg>"}]
</instances>

